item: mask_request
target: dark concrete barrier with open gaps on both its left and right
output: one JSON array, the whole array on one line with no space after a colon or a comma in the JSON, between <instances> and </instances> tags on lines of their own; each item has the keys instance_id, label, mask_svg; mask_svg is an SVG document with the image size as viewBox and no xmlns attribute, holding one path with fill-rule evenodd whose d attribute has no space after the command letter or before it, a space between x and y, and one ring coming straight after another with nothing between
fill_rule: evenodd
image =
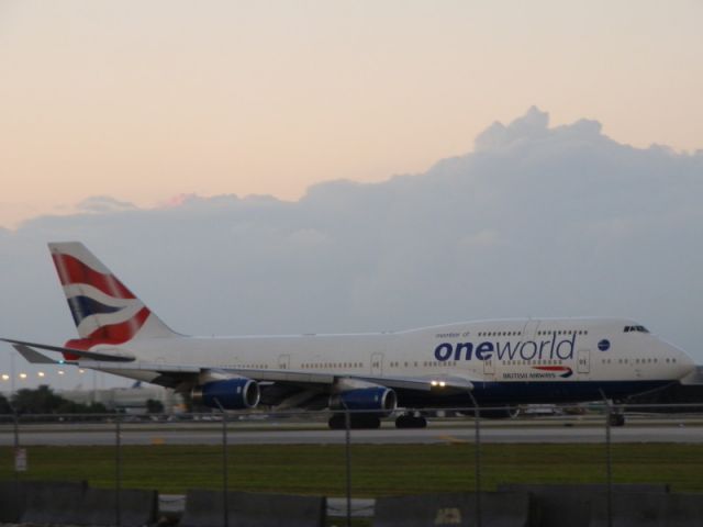
<instances>
[{"instance_id":1,"label":"dark concrete barrier with open gaps on both its left and right","mask_svg":"<svg viewBox=\"0 0 703 527\"><path fill-rule=\"evenodd\" d=\"M325 498L286 494L227 493L227 517L237 527L322 527ZM190 490L181 527L224 525L222 492Z\"/></svg>"}]
</instances>

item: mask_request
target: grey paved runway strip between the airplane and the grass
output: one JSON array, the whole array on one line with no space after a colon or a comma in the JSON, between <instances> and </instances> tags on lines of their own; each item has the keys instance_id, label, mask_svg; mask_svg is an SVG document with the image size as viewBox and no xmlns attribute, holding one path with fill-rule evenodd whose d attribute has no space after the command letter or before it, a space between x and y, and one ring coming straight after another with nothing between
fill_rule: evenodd
<instances>
[{"instance_id":1,"label":"grey paved runway strip between the airplane and the grass","mask_svg":"<svg viewBox=\"0 0 703 527\"><path fill-rule=\"evenodd\" d=\"M230 445L338 445L344 430L328 430L322 424L239 423L227 424ZM599 444L606 428L595 419L540 419L505 422L482 421L482 444ZM473 419L431 422L424 429L395 429L386 423L377 430L352 430L354 444L453 444L475 442ZM122 445L221 445L221 423L122 423ZM611 428L613 442L703 444L703 418L628 418L623 427ZM116 442L116 425L105 424L24 424L19 428L22 446L98 446ZM0 425L0 446L14 445L11 424Z\"/></svg>"}]
</instances>

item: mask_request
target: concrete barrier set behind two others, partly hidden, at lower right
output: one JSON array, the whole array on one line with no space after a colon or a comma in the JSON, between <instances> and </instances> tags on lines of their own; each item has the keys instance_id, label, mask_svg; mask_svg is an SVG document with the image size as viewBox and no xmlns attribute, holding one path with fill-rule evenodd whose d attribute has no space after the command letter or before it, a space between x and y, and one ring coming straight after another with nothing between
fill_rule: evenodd
<instances>
[{"instance_id":1,"label":"concrete barrier set behind two others, partly hidden, at lower right","mask_svg":"<svg viewBox=\"0 0 703 527\"><path fill-rule=\"evenodd\" d=\"M588 527L591 511L602 507L607 498L607 485L584 484L531 484L503 483L499 491L528 492L532 496L531 518L542 527ZM613 496L623 493L647 492L666 495L669 485L663 483L624 483L613 485Z\"/></svg>"}]
</instances>

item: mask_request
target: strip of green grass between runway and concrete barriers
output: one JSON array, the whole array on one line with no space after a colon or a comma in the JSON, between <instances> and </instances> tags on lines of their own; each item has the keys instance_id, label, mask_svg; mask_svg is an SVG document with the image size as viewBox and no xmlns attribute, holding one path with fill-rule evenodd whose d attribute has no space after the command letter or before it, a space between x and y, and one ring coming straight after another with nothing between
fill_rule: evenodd
<instances>
[{"instance_id":1,"label":"strip of green grass between runway and concrete barriers","mask_svg":"<svg viewBox=\"0 0 703 527\"><path fill-rule=\"evenodd\" d=\"M114 447L27 447L29 470L21 479L88 480L113 487ZM344 446L237 446L228 449L228 489L250 492L345 495ZM222 448L125 446L122 486L183 493L221 489ZM355 445L352 492L357 497L476 489L470 444ZM617 483L669 483L673 491L703 492L703 446L628 444L612 447ZM604 483L602 445L484 445L481 487L502 482ZM14 478L13 450L0 449L0 480Z\"/></svg>"}]
</instances>

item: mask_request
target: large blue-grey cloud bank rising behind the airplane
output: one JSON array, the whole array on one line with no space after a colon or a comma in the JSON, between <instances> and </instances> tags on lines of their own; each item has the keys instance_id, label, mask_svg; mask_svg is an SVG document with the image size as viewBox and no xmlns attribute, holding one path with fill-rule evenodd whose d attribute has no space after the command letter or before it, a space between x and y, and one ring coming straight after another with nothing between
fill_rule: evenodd
<instances>
[{"instance_id":1,"label":"large blue-grey cloud bank rising behind the airplane","mask_svg":"<svg viewBox=\"0 0 703 527\"><path fill-rule=\"evenodd\" d=\"M298 202L182 197L0 233L2 335L72 335L44 244L78 238L175 328L402 329L505 316L637 318L703 363L703 154L634 148L532 108L425 173ZM0 360L2 358L0 357Z\"/></svg>"}]
</instances>

